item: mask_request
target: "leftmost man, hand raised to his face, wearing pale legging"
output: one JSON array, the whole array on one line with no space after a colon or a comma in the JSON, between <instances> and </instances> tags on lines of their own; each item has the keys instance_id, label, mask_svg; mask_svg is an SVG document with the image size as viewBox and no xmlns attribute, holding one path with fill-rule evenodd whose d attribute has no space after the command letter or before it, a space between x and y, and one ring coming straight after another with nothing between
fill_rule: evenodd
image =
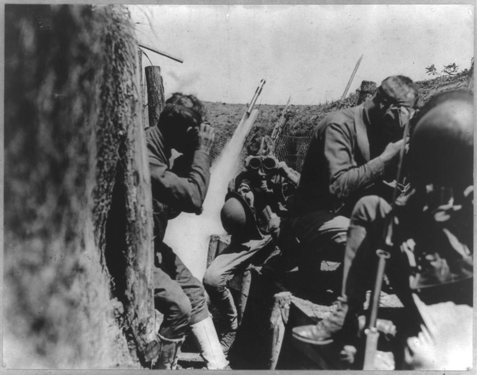
<instances>
[{"instance_id":1,"label":"leftmost man, hand raised to his face, wearing pale legging","mask_svg":"<svg viewBox=\"0 0 477 375\"><path fill-rule=\"evenodd\" d=\"M154 216L154 301L164 314L153 368L174 369L190 326L208 369L230 368L207 310L203 285L163 242L167 220L180 212L200 214L210 179L213 128L203 121L204 107L193 95L175 93L166 101L156 126L146 130ZM182 155L169 167L172 149Z\"/></svg>"}]
</instances>

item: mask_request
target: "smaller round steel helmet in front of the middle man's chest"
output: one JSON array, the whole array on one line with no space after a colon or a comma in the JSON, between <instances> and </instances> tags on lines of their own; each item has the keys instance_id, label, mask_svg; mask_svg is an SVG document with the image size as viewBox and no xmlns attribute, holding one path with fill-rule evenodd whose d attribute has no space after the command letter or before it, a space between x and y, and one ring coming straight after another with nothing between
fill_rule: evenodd
<instances>
[{"instance_id":1,"label":"smaller round steel helmet in front of the middle man's chest","mask_svg":"<svg viewBox=\"0 0 477 375\"><path fill-rule=\"evenodd\" d=\"M239 238L261 240L255 215L249 204L237 192L229 192L220 211L220 220L227 233Z\"/></svg>"}]
</instances>

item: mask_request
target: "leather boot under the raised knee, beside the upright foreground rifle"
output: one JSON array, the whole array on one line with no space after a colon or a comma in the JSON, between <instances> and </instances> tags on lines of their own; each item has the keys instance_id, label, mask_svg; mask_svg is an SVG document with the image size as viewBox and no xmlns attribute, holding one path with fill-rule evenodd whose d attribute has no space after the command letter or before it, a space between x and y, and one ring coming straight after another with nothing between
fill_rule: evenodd
<instances>
[{"instance_id":1,"label":"leather boot under the raised knee, beside the upright foreground rifle","mask_svg":"<svg viewBox=\"0 0 477 375\"><path fill-rule=\"evenodd\" d=\"M353 309L354 310L354 309ZM332 311L317 324L302 325L292 329L292 335L297 340L313 345L331 344L337 338L343 338L345 325L346 334L357 334L358 320L356 314L350 311L350 307L343 297L338 297L332 306Z\"/></svg>"}]
</instances>

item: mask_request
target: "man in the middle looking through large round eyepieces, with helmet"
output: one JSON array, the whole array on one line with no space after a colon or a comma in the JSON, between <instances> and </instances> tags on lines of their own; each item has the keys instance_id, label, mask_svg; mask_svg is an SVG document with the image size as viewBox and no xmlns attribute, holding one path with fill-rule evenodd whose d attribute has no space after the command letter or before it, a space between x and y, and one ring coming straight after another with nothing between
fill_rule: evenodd
<instances>
[{"instance_id":1,"label":"man in the middle looking through large round eyepieces, with helmet","mask_svg":"<svg viewBox=\"0 0 477 375\"><path fill-rule=\"evenodd\" d=\"M298 184L300 174L273 154L274 142L269 136L252 137L247 147L246 170L228 185L226 202L220 216L224 229L231 234L231 242L207 268L204 286L211 303L227 318L227 328L220 344L228 353L237 330L237 309L227 288L233 274L270 249L271 241L280 247L281 262L276 272L283 272L284 264L292 264L296 239L288 224L287 206ZM271 247L273 249L273 247Z\"/></svg>"}]
</instances>

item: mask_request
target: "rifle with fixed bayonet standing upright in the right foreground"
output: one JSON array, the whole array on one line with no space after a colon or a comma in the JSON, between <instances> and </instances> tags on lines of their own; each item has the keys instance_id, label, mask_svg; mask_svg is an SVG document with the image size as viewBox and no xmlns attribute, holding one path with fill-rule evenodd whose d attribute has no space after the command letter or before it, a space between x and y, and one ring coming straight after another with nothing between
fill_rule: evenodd
<instances>
[{"instance_id":1,"label":"rifle with fixed bayonet standing upright in the right foreground","mask_svg":"<svg viewBox=\"0 0 477 375\"><path fill-rule=\"evenodd\" d=\"M376 255L379 257L378 269L376 271L376 282L374 283L373 298L371 305L371 315L369 318L369 327L364 331L366 334L366 347L364 349L364 365L363 370L374 370L374 357L378 346L379 332L376 328L376 320L378 316L379 294L381 293L381 286L383 284L384 269L386 267L386 260L391 257L390 250L393 247L393 224L394 224L394 209L396 206L397 187L401 179L401 169L403 166L403 157L406 138L409 133L409 122L406 122L403 134L403 145L399 153L399 164L396 173L396 186L393 190L393 200L391 203L391 213L387 218L387 224L384 226L384 248L376 250Z\"/></svg>"}]
</instances>

